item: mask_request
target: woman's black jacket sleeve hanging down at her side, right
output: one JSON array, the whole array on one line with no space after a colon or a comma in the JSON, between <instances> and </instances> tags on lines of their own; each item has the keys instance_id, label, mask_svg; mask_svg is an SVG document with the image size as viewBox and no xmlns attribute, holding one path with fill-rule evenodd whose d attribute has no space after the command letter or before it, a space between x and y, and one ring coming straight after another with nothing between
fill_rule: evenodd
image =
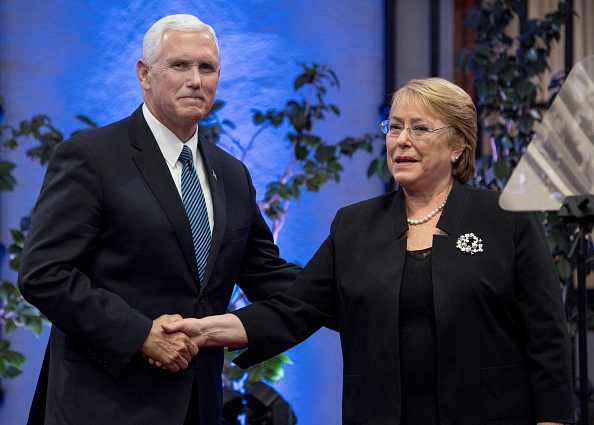
<instances>
[{"instance_id":1,"label":"woman's black jacket sleeve hanging down at her side, right","mask_svg":"<svg viewBox=\"0 0 594 425\"><path fill-rule=\"evenodd\" d=\"M572 422L572 378L561 286L536 214L516 221L516 299L535 421Z\"/></svg>"}]
</instances>

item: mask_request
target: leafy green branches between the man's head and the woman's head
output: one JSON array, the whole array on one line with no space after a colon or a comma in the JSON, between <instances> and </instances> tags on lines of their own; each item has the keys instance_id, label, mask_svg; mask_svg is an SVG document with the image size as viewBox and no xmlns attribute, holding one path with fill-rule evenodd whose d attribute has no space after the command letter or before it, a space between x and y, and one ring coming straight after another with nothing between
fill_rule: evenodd
<instances>
[{"instance_id":1,"label":"leafy green branches between the man's head and the woman's head","mask_svg":"<svg viewBox=\"0 0 594 425\"><path fill-rule=\"evenodd\" d=\"M272 222L275 240L284 225L291 201L298 199L303 190L317 192L328 182L340 182L344 170L343 158L352 157L358 151L373 153L377 142L383 142L383 135L379 132L346 137L335 143L316 134L319 123L330 116L340 115L340 109L326 100L329 89L340 86L339 80L326 65L314 63L301 66L302 72L293 83L295 98L287 100L279 109L252 110L256 131L247 143L242 143L233 135L235 124L232 121L219 118L223 102L215 103L200 126L203 136L223 145L227 143L227 150L237 150L239 153L236 156L241 160L245 160L257 140L265 136L266 129L282 127L287 130L283 143L290 149L284 171L278 179L267 184L264 199L259 202L260 209ZM381 149L379 156L371 161L367 175L382 179L389 176Z\"/></svg>"}]
</instances>

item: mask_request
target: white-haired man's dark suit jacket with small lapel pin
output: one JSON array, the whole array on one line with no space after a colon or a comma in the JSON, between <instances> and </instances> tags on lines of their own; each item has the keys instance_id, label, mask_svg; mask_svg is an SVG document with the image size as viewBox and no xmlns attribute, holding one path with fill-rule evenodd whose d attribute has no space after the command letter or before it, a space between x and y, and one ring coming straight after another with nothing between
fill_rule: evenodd
<instances>
[{"instance_id":1,"label":"white-haired man's dark suit jacket with small lapel pin","mask_svg":"<svg viewBox=\"0 0 594 425\"><path fill-rule=\"evenodd\" d=\"M53 324L47 400L32 416L181 424L195 376L201 424L220 423L223 350L201 349L176 373L150 366L138 350L152 320L224 313L235 283L263 299L299 268L278 257L245 166L212 143L199 149L214 209L202 285L181 197L141 108L57 147L19 271L24 297Z\"/></svg>"}]
</instances>

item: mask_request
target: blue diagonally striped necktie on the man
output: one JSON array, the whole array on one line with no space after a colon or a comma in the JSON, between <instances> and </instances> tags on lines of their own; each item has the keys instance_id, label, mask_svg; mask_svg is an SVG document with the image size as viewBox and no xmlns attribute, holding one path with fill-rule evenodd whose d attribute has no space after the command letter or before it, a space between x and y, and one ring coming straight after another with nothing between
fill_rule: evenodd
<instances>
[{"instance_id":1,"label":"blue diagonally striped necktie on the man","mask_svg":"<svg viewBox=\"0 0 594 425\"><path fill-rule=\"evenodd\" d=\"M186 209L186 214L188 214L188 219L190 220L190 226L192 227L192 241L194 242L196 264L198 265L198 276L202 284L208 251L210 250L210 225L208 224L206 201L204 200L202 186L194 168L190 148L184 146L179 160L183 164L182 201Z\"/></svg>"}]
</instances>

